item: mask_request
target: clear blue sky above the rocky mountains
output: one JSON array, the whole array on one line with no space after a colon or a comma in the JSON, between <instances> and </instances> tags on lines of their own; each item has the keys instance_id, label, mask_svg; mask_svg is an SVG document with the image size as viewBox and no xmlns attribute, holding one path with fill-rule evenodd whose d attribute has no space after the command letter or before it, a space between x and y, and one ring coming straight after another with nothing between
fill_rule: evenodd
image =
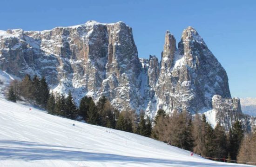
<instances>
[{"instance_id":1,"label":"clear blue sky above the rocky mountains","mask_svg":"<svg viewBox=\"0 0 256 167\"><path fill-rule=\"evenodd\" d=\"M123 21L141 58L160 58L167 29L178 42L193 26L226 69L231 95L256 97L256 0L1 0L0 6L0 30Z\"/></svg>"}]
</instances>

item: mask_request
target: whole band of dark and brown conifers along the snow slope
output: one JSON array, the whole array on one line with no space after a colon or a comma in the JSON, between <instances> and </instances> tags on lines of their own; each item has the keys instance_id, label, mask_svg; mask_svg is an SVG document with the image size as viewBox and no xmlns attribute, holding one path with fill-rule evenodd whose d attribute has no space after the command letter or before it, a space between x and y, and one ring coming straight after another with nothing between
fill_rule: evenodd
<instances>
[{"instance_id":1,"label":"whole band of dark and brown conifers along the snow slope","mask_svg":"<svg viewBox=\"0 0 256 167\"><path fill-rule=\"evenodd\" d=\"M101 96L97 103L92 97L84 96L76 106L70 91L67 96L49 92L45 77L36 75L32 78L26 75L21 81L11 82L7 98L13 102L27 100L52 115L151 137L217 161L223 161L223 157L255 161L256 157L256 130L244 136L239 121L226 132L220 124L212 128L204 114L191 116L187 111L174 111L169 115L159 109L152 120L143 111L140 115L131 109L119 112L105 96Z\"/></svg>"}]
</instances>

